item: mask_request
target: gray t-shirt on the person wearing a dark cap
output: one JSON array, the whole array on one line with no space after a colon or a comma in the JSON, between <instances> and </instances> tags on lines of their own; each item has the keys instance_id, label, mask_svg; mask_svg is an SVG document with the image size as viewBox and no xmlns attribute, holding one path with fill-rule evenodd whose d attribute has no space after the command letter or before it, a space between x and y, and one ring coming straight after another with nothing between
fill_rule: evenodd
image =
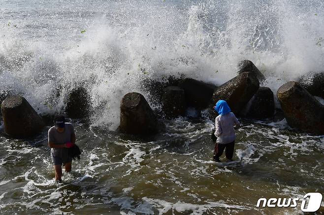
<instances>
[{"instance_id":1,"label":"gray t-shirt on the person wearing a dark cap","mask_svg":"<svg viewBox=\"0 0 324 215\"><path fill-rule=\"evenodd\" d=\"M71 123L65 123L65 129L63 133L59 133L55 126L48 130L48 141L55 144L65 144L71 142L71 134L74 134L74 128ZM52 157L60 157L64 160L67 158L67 148L52 148Z\"/></svg>"}]
</instances>

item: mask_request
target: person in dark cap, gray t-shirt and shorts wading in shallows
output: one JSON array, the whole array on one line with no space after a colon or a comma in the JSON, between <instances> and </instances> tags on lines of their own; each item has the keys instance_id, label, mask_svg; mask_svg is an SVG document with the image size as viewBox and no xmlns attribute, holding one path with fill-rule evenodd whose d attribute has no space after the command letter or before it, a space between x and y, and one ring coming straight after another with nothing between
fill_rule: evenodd
<instances>
[{"instance_id":1,"label":"person in dark cap, gray t-shirt and shorts wading in shallows","mask_svg":"<svg viewBox=\"0 0 324 215\"><path fill-rule=\"evenodd\" d=\"M65 122L60 115L54 119L55 126L48 130L48 145L51 148L51 158L55 169L55 181L62 181L62 164L65 171L70 172L72 158L68 156L68 148L75 144L75 133L71 123Z\"/></svg>"}]
</instances>

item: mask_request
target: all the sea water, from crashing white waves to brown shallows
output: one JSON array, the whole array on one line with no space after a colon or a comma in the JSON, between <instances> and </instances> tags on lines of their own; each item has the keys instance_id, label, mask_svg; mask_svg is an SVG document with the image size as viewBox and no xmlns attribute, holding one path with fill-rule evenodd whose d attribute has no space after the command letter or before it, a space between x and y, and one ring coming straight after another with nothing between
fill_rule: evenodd
<instances>
[{"instance_id":1,"label":"all the sea water, from crashing white waves to brown shallows","mask_svg":"<svg viewBox=\"0 0 324 215\"><path fill-rule=\"evenodd\" d=\"M147 80L185 75L220 85L250 59L276 94L322 71L323 11L320 0L1 0L0 90L23 95L45 115L62 111L69 90L83 85L95 111L71 119L84 154L63 184L53 181L51 125L24 140L1 126L0 213L302 213L300 204L256 204L324 193L324 136L293 130L285 119L239 119L251 125L237 130L235 161L217 164L209 119L163 120L165 131L145 139L116 129L128 92L161 109Z\"/></svg>"}]
</instances>

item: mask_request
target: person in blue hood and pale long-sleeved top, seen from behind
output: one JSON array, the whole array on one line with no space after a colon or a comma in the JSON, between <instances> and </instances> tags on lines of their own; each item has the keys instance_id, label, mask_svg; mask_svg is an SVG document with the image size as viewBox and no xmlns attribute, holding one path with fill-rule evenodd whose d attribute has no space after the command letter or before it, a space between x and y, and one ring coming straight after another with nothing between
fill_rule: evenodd
<instances>
[{"instance_id":1,"label":"person in blue hood and pale long-sleeved top, seen from behind","mask_svg":"<svg viewBox=\"0 0 324 215\"><path fill-rule=\"evenodd\" d=\"M214 109L218 112L218 116L215 119L215 136L217 137L213 159L216 162L220 162L224 149L226 158L232 161L234 154L234 142L235 131L234 126L240 126L240 122L231 112L224 100L219 100Z\"/></svg>"}]
</instances>

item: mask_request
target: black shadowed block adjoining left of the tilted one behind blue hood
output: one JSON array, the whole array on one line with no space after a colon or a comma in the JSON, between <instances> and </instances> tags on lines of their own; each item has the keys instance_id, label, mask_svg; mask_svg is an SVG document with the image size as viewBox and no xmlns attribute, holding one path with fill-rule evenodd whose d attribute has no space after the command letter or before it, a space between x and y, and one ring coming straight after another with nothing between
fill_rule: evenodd
<instances>
[{"instance_id":1,"label":"black shadowed block adjoining left of the tilted one behind blue hood","mask_svg":"<svg viewBox=\"0 0 324 215\"><path fill-rule=\"evenodd\" d=\"M210 104L210 99L217 88L213 84L194 79L179 81L178 86L185 90L187 105L197 109L206 108Z\"/></svg>"}]
</instances>

